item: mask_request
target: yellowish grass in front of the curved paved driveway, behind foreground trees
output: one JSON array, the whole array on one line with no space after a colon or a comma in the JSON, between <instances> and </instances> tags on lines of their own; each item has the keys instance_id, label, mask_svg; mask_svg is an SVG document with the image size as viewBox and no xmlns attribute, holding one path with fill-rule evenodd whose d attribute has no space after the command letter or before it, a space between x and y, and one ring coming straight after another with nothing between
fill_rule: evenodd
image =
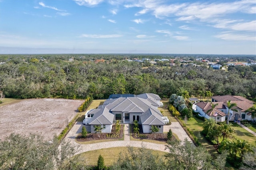
<instances>
[{"instance_id":1,"label":"yellowish grass in front of the curved paved driveway, behind foreground trees","mask_svg":"<svg viewBox=\"0 0 256 170\"><path fill-rule=\"evenodd\" d=\"M86 158L87 165L96 166L98 161L98 156L101 155L104 158L104 164L106 166L111 166L117 161L119 153L122 153L123 155L127 154L128 153L127 147L116 147L116 148L93 150L89 152L84 152L82 154L78 154L77 156L82 156ZM162 156L166 154L166 152L161 152L157 150L152 150L152 153L162 155Z\"/></svg>"}]
</instances>

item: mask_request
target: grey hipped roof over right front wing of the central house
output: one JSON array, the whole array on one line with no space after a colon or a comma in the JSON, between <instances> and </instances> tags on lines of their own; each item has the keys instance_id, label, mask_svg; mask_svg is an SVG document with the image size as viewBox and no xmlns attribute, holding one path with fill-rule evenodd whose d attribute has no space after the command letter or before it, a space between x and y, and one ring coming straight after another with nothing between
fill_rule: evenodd
<instances>
[{"instance_id":1,"label":"grey hipped roof over right front wing of the central house","mask_svg":"<svg viewBox=\"0 0 256 170\"><path fill-rule=\"evenodd\" d=\"M165 125L162 117L151 108L140 115L140 119L142 125Z\"/></svg>"}]
</instances>

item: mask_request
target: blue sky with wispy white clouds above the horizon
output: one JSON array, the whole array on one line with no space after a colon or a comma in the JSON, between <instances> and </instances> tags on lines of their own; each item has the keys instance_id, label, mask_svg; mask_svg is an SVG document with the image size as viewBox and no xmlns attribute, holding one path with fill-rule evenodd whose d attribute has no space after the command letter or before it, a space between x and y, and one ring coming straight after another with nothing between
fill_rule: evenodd
<instances>
[{"instance_id":1,"label":"blue sky with wispy white clouds above the horizon","mask_svg":"<svg viewBox=\"0 0 256 170\"><path fill-rule=\"evenodd\" d=\"M256 0L0 0L0 53L256 54Z\"/></svg>"}]
</instances>

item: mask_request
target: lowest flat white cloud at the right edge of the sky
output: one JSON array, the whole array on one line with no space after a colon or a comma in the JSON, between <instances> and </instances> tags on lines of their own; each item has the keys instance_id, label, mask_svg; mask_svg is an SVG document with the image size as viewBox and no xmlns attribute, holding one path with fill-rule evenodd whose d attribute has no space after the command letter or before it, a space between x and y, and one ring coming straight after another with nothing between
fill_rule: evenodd
<instances>
[{"instance_id":1,"label":"lowest flat white cloud at the right edge of the sky","mask_svg":"<svg viewBox=\"0 0 256 170\"><path fill-rule=\"evenodd\" d=\"M243 34L233 34L229 32L223 32L215 36L222 40L237 40L237 41L256 41L256 36L254 35L243 35Z\"/></svg>"}]
</instances>

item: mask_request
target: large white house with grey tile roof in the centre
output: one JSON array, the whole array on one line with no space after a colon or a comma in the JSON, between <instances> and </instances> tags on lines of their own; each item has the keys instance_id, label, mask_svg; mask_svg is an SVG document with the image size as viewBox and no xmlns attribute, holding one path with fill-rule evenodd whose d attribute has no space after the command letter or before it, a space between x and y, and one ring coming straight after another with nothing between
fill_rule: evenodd
<instances>
[{"instance_id":1,"label":"large white house with grey tile roof in the centre","mask_svg":"<svg viewBox=\"0 0 256 170\"><path fill-rule=\"evenodd\" d=\"M158 107L163 106L160 100L161 98L153 93L110 95L98 109L86 112L83 123L90 125L91 132L94 132L95 125L101 125L103 133L110 133L113 123L117 120L121 123L133 123L137 120L144 133L150 133L152 125L159 128L158 133L163 133L163 126L169 123L169 120L158 110Z\"/></svg>"}]
</instances>

